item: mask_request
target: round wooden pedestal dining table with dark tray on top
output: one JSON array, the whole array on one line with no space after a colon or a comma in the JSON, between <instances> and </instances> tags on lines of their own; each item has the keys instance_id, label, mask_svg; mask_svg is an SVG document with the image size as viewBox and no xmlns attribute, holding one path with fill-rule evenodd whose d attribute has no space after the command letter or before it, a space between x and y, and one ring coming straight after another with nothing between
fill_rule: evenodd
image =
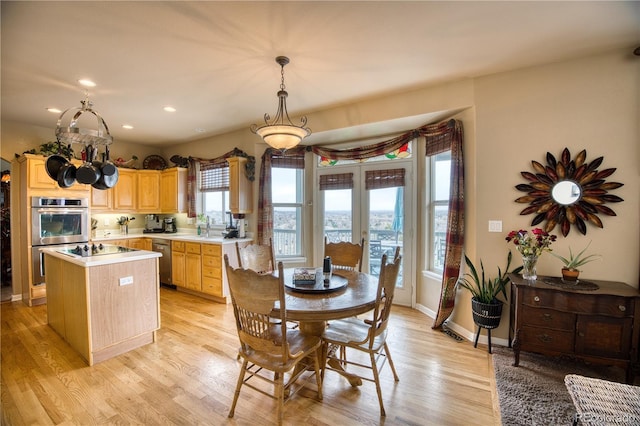
<instances>
[{"instance_id":1,"label":"round wooden pedestal dining table with dark tray on top","mask_svg":"<svg viewBox=\"0 0 640 426\"><path fill-rule=\"evenodd\" d=\"M373 310L378 291L378 278L357 271L339 270L332 280L347 280L347 285L338 290L308 289L292 287L293 268L284 270L285 304L287 319L297 321L303 333L321 336L327 322L349 318ZM321 279L321 278L320 278ZM318 286L321 287L321 286ZM327 348L325 348L326 350ZM335 350L330 348L329 350ZM326 358L326 353L323 353ZM360 386L362 380L344 371L342 365L331 359L330 365L349 380L352 386Z\"/></svg>"}]
</instances>

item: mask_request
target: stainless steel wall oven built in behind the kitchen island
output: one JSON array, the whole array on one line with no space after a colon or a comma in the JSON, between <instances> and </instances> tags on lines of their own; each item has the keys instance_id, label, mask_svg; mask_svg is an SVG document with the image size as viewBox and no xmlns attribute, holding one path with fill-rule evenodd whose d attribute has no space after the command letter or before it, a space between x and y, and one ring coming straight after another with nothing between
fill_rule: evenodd
<instances>
[{"instance_id":1,"label":"stainless steel wall oven built in behind the kitchen island","mask_svg":"<svg viewBox=\"0 0 640 426\"><path fill-rule=\"evenodd\" d=\"M43 247L89 241L88 198L31 198L33 284L44 282Z\"/></svg>"}]
</instances>

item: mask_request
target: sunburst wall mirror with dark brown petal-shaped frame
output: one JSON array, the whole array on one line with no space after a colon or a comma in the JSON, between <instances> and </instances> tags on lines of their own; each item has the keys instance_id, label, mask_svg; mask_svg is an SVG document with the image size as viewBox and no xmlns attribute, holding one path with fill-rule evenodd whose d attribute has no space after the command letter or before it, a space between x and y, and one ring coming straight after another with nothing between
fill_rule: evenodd
<instances>
[{"instance_id":1,"label":"sunburst wall mirror with dark brown petal-shaped frame","mask_svg":"<svg viewBox=\"0 0 640 426\"><path fill-rule=\"evenodd\" d=\"M575 226L582 235L587 233L587 223L602 228L599 214L616 216L606 203L624 201L609 191L620 188L620 182L606 182L616 169L598 170L604 157L591 162L586 161L587 151L582 150L571 158L568 148L562 151L560 159L547 152L547 164L531 161L534 172L521 172L527 183L516 185L518 191L527 195L516 199L517 203L529 204L521 215L535 214L531 225L545 222L542 226L547 232L560 227L563 236L567 236L571 226Z\"/></svg>"}]
</instances>

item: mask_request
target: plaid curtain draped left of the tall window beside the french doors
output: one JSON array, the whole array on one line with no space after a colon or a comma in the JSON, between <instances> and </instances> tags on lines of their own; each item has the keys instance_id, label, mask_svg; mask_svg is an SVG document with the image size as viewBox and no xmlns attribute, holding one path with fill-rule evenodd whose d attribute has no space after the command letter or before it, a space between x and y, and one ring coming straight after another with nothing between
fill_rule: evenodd
<instances>
[{"instance_id":1,"label":"plaid curtain draped left of the tall window beside the french doors","mask_svg":"<svg viewBox=\"0 0 640 426\"><path fill-rule=\"evenodd\" d=\"M286 151L267 148L262 154L258 184L258 244L269 244L269 239L273 238L271 168L278 166L304 169L304 155L307 151L306 146L297 146Z\"/></svg>"}]
</instances>

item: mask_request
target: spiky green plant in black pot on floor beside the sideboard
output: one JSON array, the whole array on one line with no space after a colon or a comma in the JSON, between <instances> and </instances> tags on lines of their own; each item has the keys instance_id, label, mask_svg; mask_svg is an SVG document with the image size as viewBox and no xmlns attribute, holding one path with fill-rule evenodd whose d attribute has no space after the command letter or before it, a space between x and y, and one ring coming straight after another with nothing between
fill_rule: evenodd
<instances>
[{"instance_id":1,"label":"spiky green plant in black pot on floor beside the sideboard","mask_svg":"<svg viewBox=\"0 0 640 426\"><path fill-rule=\"evenodd\" d=\"M473 321L482 328L492 329L500 325L502 317L502 300L498 299L500 295L507 300L507 283L509 282L509 266L511 266L511 250L507 255L507 266L503 270L498 267L498 276L491 278L485 276L484 265L480 260L480 275L478 270L465 254L464 260L469 268L469 272L464 274L458 280L458 285L471 293L471 311ZM512 272L518 273L522 270L522 266L517 267Z\"/></svg>"}]
</instances>

